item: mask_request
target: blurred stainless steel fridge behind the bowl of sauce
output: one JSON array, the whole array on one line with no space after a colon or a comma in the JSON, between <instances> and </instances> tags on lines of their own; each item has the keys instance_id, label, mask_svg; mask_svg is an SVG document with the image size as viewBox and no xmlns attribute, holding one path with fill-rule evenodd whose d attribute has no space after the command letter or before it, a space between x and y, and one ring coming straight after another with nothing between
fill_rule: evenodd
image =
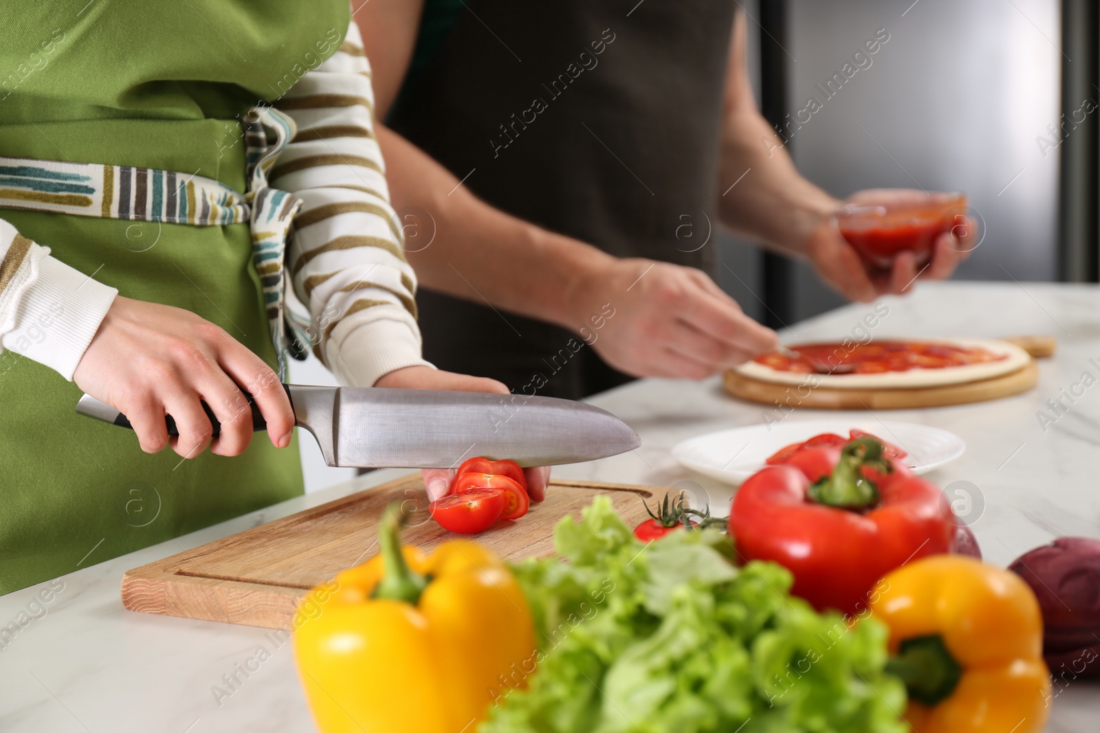
<instances>
[{"instance_id":1,"label":"blurred stainless steel fridge behind the bowl of sauce","mask_svg":"<svg viewBox=\"0 0 1100 733\"><path fill-rule=\"evenodd\" d=\"M757 0L740 4L760 18ZM1057 143L1048 125L1062 122L1060 7L788 0L788 108L800 110L811 97L823 104L791 137L799 169L840 198L873 187L966 191L986 234L956 278L1056 279L1059 149L1037 138ZM879 29L890 40L871 65L826 99L816 85ZM750 20L758 100L759 33ZM763 320L757 251L732 237L719 246L723 287ZM795 321L844 302L804 265L795 267L792 296Z\"/></svg>"}]
</instances>

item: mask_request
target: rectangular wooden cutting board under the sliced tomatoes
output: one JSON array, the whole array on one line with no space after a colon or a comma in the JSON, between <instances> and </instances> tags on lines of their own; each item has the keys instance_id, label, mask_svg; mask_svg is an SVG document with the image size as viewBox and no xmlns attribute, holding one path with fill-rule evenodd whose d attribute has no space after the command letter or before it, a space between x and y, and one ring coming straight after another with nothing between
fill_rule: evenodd
<instances>
[{"instance_id":1,"label":"rectangular wooden cutting board under the sliced tomatoes","mask_svg":"<svg viewBox=\"0 0 1100 733\"><path fill-rule=\"evenodd\" d=\"M550 484L546 501L476 541L510 560L543 557L553 554L554 524L565 514L580 519L593 497L610 497L634 526L647 517L642 500L663 498L668 490L558 479ZM413 474L134 568L122 578L122 604L144 613L290 630L295 609L311 588L375 555L378 518L391 501L415 507L403 535L406 544L430 551L461 536L431 520L420 474Z\"/></svg>"}]
</instances>

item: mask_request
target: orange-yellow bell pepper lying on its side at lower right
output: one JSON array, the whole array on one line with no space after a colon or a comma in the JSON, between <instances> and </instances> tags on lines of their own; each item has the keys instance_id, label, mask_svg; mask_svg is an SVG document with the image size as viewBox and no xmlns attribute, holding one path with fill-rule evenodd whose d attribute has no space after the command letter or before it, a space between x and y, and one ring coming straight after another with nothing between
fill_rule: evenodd
<instances>
[{"instance_id":1,"label":"orange-yellow bell pepper lying on its side at lower right","mask_svg":"<svg viewBox=\"0 0 1100 733\"><path fill-rule=\"evenodd\" d=\"M915 733L1034 733L1050 678L1038 601L1015 574L935 555L887 575L871 615L890 628L887 665L905 681Z\"/></svg>"}]
</instances>

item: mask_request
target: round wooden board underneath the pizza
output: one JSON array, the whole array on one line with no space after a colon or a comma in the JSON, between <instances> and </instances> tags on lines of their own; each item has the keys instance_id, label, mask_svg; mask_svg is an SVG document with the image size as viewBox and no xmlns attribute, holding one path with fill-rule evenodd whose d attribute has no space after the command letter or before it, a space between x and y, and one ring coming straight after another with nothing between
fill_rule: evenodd
<instances>
[{"instance_id":1,"label":"round wooden board underneath the pizza","mask_svg":"<svg viewBox=\"0 0 1100 733\"><path fill-rule=\"evenodd\" d=\"M807 375L812 376L812 375ZM836 387L795 387L780 385L734 370L725 374L726 391L751 402L788 408L815 410L912 410L947 404L965 404L996 400L1018 395L1038 381L1038 365L1031 359L1026 365L1000 377L979 379L957 385L890 389L838 389Z\"/></svg>"}]
</instances>

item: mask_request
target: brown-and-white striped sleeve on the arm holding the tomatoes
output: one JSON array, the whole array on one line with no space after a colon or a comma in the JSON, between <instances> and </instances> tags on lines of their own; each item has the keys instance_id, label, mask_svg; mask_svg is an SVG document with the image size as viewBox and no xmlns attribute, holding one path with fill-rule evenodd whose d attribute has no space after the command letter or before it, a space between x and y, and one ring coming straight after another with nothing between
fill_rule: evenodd
<instances>
[{"instance_id":1,"label":"brown-and-white striped sleeve on the arm holding the tomatoes","mask_svg":"<svg viewBox=\"0 0 1100 733\"><path fill-rule=\"evenodd\" d=\"M341 384L359 387L400 367L428 365L416 323L416 276L389 204L370 64L354 21L340 49L275 107L298 129L271 178L302 200L287 267L314 321L314 353Z\"/></svg>"}]
</instances>

